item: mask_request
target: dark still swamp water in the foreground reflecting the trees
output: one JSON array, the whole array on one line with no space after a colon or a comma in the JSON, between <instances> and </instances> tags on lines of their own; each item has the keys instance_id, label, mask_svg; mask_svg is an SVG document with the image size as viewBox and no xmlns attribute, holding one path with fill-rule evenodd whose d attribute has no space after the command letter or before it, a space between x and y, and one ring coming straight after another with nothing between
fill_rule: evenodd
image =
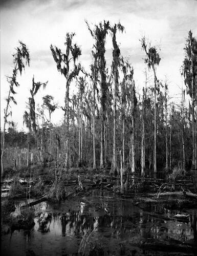
<instances>
[{"instance_id":1,"label":"dark still swamp water in the foreground reflecting the trees","mask_svg":"<svg viewBox=\"0 0 197 256\"><path fill-rule=\"evenodd\" d=\"M16 206L19 203L23 202L16 202ZM196 210L187 211L189 217L185 222L168 220L160 218L159 214L172 217L177 211L171 212L162 205L142 209L131 199L121 199L102 190L92 191L77 201L42 202L34 208L34 228L4 234L1 255L195 254L191 250L185 254L182 249L172 252L154 246L143 249L141 245L145 240L186 242L196 239ZM38 222L41 214L48 215L43 225Z\"/></svg>"}]
</instances>

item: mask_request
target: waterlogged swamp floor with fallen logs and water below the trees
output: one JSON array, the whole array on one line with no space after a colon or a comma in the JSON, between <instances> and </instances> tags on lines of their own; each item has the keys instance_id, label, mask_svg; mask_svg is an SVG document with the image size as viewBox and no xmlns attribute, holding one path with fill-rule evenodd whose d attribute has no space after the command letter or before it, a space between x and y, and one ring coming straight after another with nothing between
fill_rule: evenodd
<instances>
[{"instance_id":1,"label":"waterlogged swamp floor with fallen logs and water below the trees","mask_svg":"<svg viewBox=\"0 0 197 256\"><path fill-rule=\"evenodd\" d=\"M121 193L109 171L73 168L57 199L49 170L40 172L32 168L34 182L4 180L3 255L196 255L191 175L164 183L134 174Z\"/></svg>"}]
</instances>

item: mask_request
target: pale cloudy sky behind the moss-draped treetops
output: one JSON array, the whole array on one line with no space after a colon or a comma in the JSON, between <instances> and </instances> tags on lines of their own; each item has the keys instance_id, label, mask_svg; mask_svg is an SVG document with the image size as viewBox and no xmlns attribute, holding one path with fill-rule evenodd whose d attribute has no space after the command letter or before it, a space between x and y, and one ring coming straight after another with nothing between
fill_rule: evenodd
<instances>
[{"instance_id":1,"label":"pale cloudy sky behind the moss-draped treetops","mask_svg":"<svg viewBox=\"0 0 197 256\"><path fill-rule=\"evenodd\" d=\"M12 0L1 1L1 127L3 109L9 84L5 75L12 73L12 54L18 40L23 41L30 50L30 67L18 76L20 87L15 96L17 106L12 108L12 119L19 129L23 128L23 114L30 96L32 77L35 81L49 81L45 91L37 93L36 103L46 94L54 96L55 102L63 105L65 79L57 69L50 52L50 45L64 49L67 32L75 32L75 42L81 46L79 61L86 70L91 65L93 39L84 20L91 26L110 20L119 21L125 33L118 35L121 55L128 57L134 67L135 81L139 90L144 85L144 52L139 39L145 35L152 45L160 47L161 61L158 78L169 80L170 95L177 98L182 86L180 67L184 58L184 45L191 29L197 36L196 0ZM107 67L112 61L110 36L106 42ZM71 88L73 90L73 88ZM52 121L62 119L62 111L52 115Z\"/></svg>"}]
</instances>

